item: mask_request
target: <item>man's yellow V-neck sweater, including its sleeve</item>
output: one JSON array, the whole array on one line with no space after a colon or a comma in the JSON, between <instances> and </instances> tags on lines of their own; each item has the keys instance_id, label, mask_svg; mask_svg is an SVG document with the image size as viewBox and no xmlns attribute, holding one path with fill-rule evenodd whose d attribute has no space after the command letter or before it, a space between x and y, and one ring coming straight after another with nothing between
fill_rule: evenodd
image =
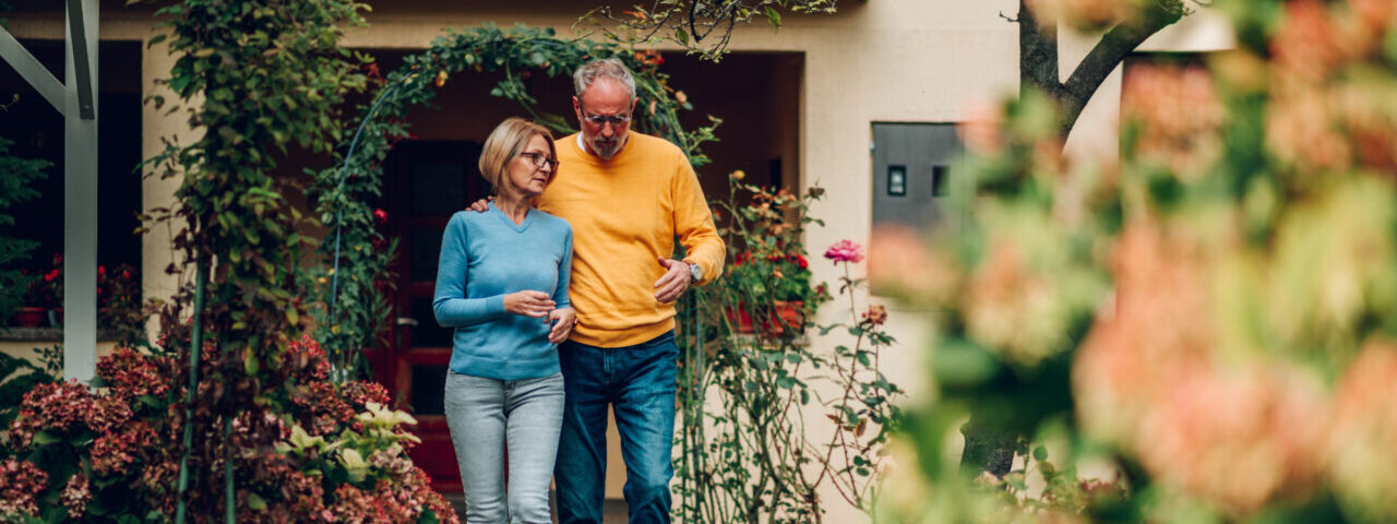
<instances>
[{"instance_id":1,"label":"man's yellow V-neck sweater, including its sleeve","mask_svg":"<svg viewBox=\"0 0 1397 524\"><path fill-rule=\"evenodd\" d=\"M619 348L675 328L675 305L655 299L659 259L685 246L707 284L722 272L725 247L698 177L669 141L630 133L608 161L584 151L577 134L555 143L562 166L538 208L573 225L570 293L580 324L573 341ZM686 275L687 277L687 275Z\"/></svg>"}]
</instances>

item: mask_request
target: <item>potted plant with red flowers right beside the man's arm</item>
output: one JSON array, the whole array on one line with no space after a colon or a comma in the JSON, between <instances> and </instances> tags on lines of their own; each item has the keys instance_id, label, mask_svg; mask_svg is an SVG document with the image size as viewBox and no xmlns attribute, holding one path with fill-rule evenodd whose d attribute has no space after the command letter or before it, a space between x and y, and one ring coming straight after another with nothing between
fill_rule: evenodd
<instances>
[{"instance_id":1,"label":"potted plant with red flowers right beside the man's arm","mask_svg":"<svg viewBox=\"0 0 1397 524\"><path fill-rule=\"evenodd\" d=\"M732 260L726 265L725 316L736 333L796 337L819 303L828 300L824 285L812 285L803 245L810 201L824 190L805 194L742 183L742 170L729 176L726 201L715 203L719 233ZM724 212L728 219L724 222ZM756 319L756 321L753 320Z\"/></svg>"}]
</instances>

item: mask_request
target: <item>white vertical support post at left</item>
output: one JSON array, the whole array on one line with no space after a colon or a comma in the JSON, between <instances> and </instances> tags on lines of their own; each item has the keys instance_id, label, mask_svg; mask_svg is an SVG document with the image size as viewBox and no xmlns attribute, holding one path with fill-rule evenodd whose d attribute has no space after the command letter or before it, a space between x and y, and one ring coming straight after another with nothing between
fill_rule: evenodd
<instances>
[{"instance_id":1,"label":"white vertical support post at left","mask_svg":"<svg viewBox=\"0 0 1397 524\"><path fill-rule=\"evenodd\" d=\"M67 80L63 112L63 377L87 381L96 374L98 108L92 94L96 92L98 71L98 0L67 3L63 60Z\"/></svg>"}]
</instances>

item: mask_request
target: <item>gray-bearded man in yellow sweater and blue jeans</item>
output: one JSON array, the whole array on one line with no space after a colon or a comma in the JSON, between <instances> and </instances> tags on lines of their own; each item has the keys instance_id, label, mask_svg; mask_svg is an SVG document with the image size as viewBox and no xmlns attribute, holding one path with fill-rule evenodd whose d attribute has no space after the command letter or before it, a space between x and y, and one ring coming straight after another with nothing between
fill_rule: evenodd
<instances>
[{"instance_id":1,"label":"gray-bearded man in yellow sweater and blue jeans","mask_svg":"<svg viewBox=\"0 0 1397 524\"><path fill-rule=\"evenodd\" d=\"M566 391L553 470L559 523L602 521L608 407L620 432L630 521L668 523L673 302L722 271L725 246L685 152L630 130L637 98L626 66L594 60L573 81L581 133L555 143L560 168L538 203L571 222L574 236L578 324L557 351ZM676 238L685 260L669 259Z\"/></svg>"}]
</instances>

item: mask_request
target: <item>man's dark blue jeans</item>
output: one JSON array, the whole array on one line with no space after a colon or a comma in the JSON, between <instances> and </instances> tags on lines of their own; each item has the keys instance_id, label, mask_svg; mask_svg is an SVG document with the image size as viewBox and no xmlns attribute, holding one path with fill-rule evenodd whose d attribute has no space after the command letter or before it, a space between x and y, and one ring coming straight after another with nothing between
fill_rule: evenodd
<instances>
[{"instance_id":1,"label":"man's dark blue jeans","mask_svg":"<svg viewBox=\"0 0 1397 524\"><path fill-rule=\"evenodd\" d=\"M567 390L553 471L559 524L602 521L608 405L620 432L630 523L669 523L678 356L673 331L624 348L559 347Z\"/></svg>"}]
</instances>

